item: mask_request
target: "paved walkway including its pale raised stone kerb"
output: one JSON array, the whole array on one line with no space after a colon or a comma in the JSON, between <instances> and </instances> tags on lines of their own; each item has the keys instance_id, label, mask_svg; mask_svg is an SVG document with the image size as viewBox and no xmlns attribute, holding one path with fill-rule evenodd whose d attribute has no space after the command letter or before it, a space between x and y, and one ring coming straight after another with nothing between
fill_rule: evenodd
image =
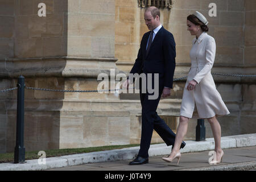
<instances>
[{"instance_id":1,"label":"paved walkway including its pale raised stone kerb","mask_svg":"<svg viewBox=\"0 0 256 182\"><path fill-rule=\"evenodd\" d=\"M170 154L171 146L152 144L148 154L149 164L129 166L128 163L138 154L139 147L122 148L117 150L89 152L46 158L26 160L23 164L1 163L0 171L41 171L41 170L85 170L85 171L168 171L168 170L251 170L255 167L256 159L256 134L233 135L221 137L221 147L224 150L224 161L219 165L208 163L209 151L214 150L214 139L196 142L186 140L186 146L180 150L181 159L177 166L174 163L164 162L161 158ZM47 155L47 154L46 154ZM40 162L39 162L40 160ZM203 167L203 168L202 168Z\"/></svg>"}]
</instances>

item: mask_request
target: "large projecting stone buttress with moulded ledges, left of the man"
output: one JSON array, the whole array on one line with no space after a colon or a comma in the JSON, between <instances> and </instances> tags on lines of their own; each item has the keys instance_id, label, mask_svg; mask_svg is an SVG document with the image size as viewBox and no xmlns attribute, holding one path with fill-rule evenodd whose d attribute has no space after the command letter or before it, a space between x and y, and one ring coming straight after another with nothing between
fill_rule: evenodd
<instances>
[{"instance_id":1,"label":"large projecting stone buttress with moulded ledges, left of the man","mask_svg":"<svg viewBox=\"0 0 256 182\"><path fill-rule=\"evenodd\" d=\"M0 31L5 38L0 44L6 45L0 51L0 88L15 87L16 78L23 75L26 86L97 90L99 73L117 71L115 0L48 0L44 1L46 17L38 16L36 2L1 1L1 10L13 12L0 13L6 22ZM1 94L0 100L0 152L11 152L16 92ZM26 151L129 143L129 113L115 107L118 100L113 94L26 89ZM115 130L117 122L123 123Z\"/></svg>"}]
</instances>

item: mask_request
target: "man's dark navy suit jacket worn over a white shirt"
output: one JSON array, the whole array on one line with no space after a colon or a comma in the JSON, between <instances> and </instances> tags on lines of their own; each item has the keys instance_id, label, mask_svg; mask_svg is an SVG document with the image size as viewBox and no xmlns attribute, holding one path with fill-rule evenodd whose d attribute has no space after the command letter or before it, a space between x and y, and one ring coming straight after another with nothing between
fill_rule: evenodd
<instances>
[{"instance_id":1,"label":"man's dark navy suit jacket worn over a white shirt","mask_svg":"<svg viewBox=\"0 0 256 182\"><path fill-rule=\"evenodd\" d=\"M141 47L130 73L159 73L159 82L162 82L163 86L172 88L176 57L174 36L164 27L160 28L146 56L150 32L146 32L142 37Z\"/></svg>"}]
</instances>

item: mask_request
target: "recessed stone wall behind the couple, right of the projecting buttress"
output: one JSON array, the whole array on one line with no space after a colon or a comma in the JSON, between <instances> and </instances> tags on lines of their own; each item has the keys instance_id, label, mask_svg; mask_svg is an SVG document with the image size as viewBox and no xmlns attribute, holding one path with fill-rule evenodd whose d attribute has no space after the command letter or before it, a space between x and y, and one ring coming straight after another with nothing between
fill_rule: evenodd
<instances>
[{"instance_id":1,"label":"recessed stone wall behind the couple, right of the projecting buttress","mask_svg":"<svg viewBox=\"0 0 256 182\"><path fill-rule=\"evenodd\" d=\"M212 72L255 75L255 2L244 0L176 0L171 10L160 9L163 26L174 34L176 42L175 78L187 76L191 65L189 51L193 36L187 31L187 16L200 11L209 21L208 34L216 40L216 59ZM216 3L217 16L208 15L209 3ZM137 7L136 1L116 1L115 4L115 57L117 66L129 72L138 53L139 44L147 27L144 24L144 9ZM250 35L250 38L248 37ZM222 99L230 110L230 115L218 118L222 136L255 133L255 79L214 76ZM160 101L158 113L179 115L184 81L175 82L171 98ZM136 95L121 95L121 99L139 99ZM138 111L139 112L139 111ZM132 121L131 121L132 122ZM139 122L137 122L139 124ZM189 122L185 139L195 139L196 119ZM206 137L213 137L209 123L205 120ZM139 135L136 131L135 135ZM155 134L155 133L154 133ZM155 141L158 136L155 134Z\"/></svg>"}]
</instances>

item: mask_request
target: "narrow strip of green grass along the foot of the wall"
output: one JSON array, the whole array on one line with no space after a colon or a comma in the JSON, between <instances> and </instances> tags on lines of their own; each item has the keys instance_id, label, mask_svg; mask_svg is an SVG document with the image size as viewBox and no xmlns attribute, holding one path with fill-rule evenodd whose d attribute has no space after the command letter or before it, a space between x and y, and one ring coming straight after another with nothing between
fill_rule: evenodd
<instances>
[{"instance_id":1,"label":"narrow strip of green grass along the foot of the wall","mask_svg":"<svg viewBox=\"0 0 256 182\"><path fill-rule=\"evenodd\" d=\"M46 158L51 158L55 156L71 155L71 154L82 154L88 152L97 152L105 150L114 150L127 147L137 147L139 144L127 144L119 146L102 146L102 147L88 147L88 148L67 148L67 149L55 149L46 150ZM25 160L39 159L39 151L29 151L25 152ZM14 152L0 154L0 163L14 162Z\"/></svg>"}]
</instances>

